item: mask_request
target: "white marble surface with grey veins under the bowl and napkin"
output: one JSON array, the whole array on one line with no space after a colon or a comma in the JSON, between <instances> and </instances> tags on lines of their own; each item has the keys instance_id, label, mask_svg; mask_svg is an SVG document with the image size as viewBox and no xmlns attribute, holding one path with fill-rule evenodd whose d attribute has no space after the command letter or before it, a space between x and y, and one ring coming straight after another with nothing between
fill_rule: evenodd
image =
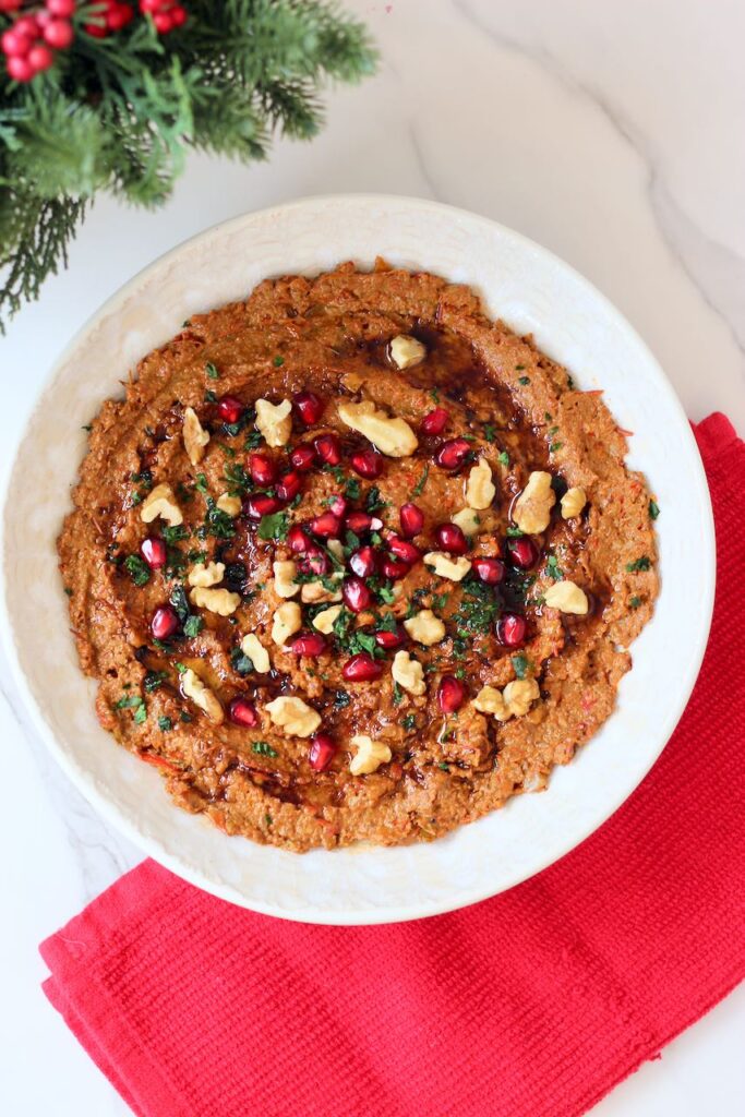
<instances>
[{"instance_id":1,"label":"white marble surface with grey veins under the bowl and napkin","mask_svg":"<svg viewBox=\"0 0 745 1117\"><path fill-rule=\"evenodd\" d=\"M307 193L433 197L495 217L594 280L657 353L693 419L745 433L745 69L742 0L347 0L380 75L336 92L312 145L266 165L191 160L159 213L96 204L70 254L0 341L4 469L45 371L134 271L246 209ZM39 618L44 623L44 618ZM12 1117L128 1113L40 991L37 944L137 851L35 738L0 663L0 1076ZM745 987L598 1106L598 1117L745 1111ZM537 1115L536 1115L537 1117Z\"/></svg>"}]
</instances>

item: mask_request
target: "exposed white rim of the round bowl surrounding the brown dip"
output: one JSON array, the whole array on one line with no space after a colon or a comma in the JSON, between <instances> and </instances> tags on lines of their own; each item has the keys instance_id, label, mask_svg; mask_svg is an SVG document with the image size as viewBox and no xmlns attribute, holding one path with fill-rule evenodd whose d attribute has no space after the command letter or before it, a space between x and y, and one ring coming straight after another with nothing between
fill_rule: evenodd
<instances>
[{"instance_id":1,"label":"exposed white rim of the round bowl surrounding the brown dip","mask_svg":"<svg viewBox=\"0 0 745 1117\"><path fill-rule=\"evenodd\" d=\"M313 275L375 256L471 284L488 312L603 388L633 431L631 466L651 484L662 590L633 645L618 707L544 794L430 844L297 856L227 838L172 805L161 777L118 747L94 713L69 633L55 541L86 450L84 423L137 360L198 311L243 298L260 279ZM309 923L389 923L472 904L525 880L599 827L665 747L698 672L715 584L711 509L691 431L665 374L585 279L503 226L410 198L309 198L217 226L145 268L80 331L51 372L26 431L4 505L6 631L39 731L102 814L169 869L257 911Z\"/></svg>"}]
</instances>

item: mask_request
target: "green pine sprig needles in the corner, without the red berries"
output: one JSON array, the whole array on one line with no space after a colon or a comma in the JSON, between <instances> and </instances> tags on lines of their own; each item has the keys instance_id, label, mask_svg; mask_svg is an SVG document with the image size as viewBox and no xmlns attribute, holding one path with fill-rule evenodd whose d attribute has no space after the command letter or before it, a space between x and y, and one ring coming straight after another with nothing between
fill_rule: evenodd
<instances>
[{"instance_id":1,"label":"green pine sprig needles in the corner, without the red berries","mask_svg":"<svg viewBox=\"0 0 745 1117\"><path fill-rule=\"evenodd\" d=\"M265 159L273 134L318 132L331 80L375 67L364 26L329 0L190 0L164 38L144 17L95 38L92 8L51 69L0 73L0 331L67 264L97 191L159 206L189 149Z\"/></svg>"}]
</instances>

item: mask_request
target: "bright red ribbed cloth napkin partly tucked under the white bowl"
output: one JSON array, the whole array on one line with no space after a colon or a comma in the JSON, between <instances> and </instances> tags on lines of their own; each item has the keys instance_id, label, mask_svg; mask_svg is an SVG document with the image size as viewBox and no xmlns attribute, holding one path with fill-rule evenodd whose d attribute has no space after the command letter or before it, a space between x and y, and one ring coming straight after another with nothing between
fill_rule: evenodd
<instances>
[{"instance_id":1,"label":"bright red ribbed cloth napkin partly tucked under the white bowl","mask_svg":"<svg viewBox=\"0 0 745 1117\"><path fill-rule=\"evenodd\" d=\"M714 628L638 791L539 876L418 923L285 923L145 861L41 946L49 1000L135 1114L575 1117L741 981L745 445L724 416L697 438Z\"/></svg>"}]
</instances>

